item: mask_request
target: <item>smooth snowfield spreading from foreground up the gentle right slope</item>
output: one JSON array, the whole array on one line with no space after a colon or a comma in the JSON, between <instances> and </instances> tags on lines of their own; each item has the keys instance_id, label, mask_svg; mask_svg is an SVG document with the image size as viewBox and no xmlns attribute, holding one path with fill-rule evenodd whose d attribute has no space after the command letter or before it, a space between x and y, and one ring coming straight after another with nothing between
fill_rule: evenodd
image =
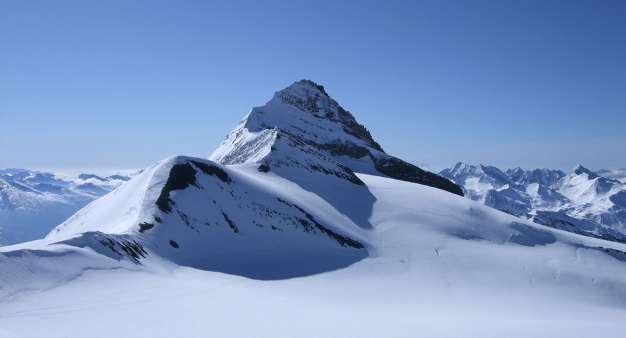
<instances>
[{"instance_id":1,"label":"smooth snowfield spreading from foreground up the gentle right slope","mask_svg":"<svg viewBox=\"0 0 626 338\"><path fill-rule=\"evenodd\" d=\"M152 248L140 262L116 260L49 236L0 248L0 337L620 337L626 329L626 245L378 176L358 175L371 198L352 204L342 198L357 198L352 191L337 189L327 202L323 191L253 167L229 174L259 194L309 201L319 219L344 214L337 226L367 257L259 280L181 267ZM159 179L148 172L129 184L150 186L145 178ZM355 223L356 211L364 216ZM111 231L120 241L145 235L122 228Z\"/></svg>"}]
</instances>

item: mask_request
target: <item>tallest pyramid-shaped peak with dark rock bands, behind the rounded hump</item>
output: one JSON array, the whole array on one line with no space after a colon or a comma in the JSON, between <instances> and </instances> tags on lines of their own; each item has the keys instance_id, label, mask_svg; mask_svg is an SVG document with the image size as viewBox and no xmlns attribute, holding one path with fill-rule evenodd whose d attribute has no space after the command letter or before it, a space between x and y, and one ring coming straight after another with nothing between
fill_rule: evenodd
<instances>
[{"instance_id":1,"label":"tallest pyramid-shaped peak with dark rock bands, behind the rounded hump","mask_svg":"<svg viewBox=\"0 0 626 338\"><path fill-rule=\"evenodd\" d=\"M300 147L310 146L352 171L384 175L463 196L460 187L446 178L385 153L369 131L330 98L323 86L309 80L296 82L275 93L266 105L253 108L209 158L222 164L262 164L261 159L272 151L271 142L277 140L277 135ZM275 164L282 165L279 162Z\"/></svg>"}]
</instances>

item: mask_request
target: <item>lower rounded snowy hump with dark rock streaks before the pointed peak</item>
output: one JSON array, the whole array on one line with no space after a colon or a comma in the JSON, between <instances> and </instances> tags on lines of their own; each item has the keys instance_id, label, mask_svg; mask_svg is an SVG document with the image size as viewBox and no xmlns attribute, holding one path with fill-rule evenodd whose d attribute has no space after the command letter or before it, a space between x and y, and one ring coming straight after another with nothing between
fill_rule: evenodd
<instances>
[{"instance_id":1,"label":"lower rounded snowy hump with dark rock streaks before the pointed peak","mask_svg":"<svg viewBox=\"0 0 626 338\"><path fill-rule=\"evenodd\" d=\"M276 131L266 134L283 139ZM273 144L280 152L283 145ZM280 160L268 163L271 171L292 169ZM331 186L369 201L367 187L356 177L361 185L327 173L299 173L311 183L293 183L256 165L223 166L175 156L90 203L46 239L140 260L128 247L134 245L130 248L145 248L145 255L157 253L177 264L261 279L361 260L367 250L359 233L367 219L355 216L344 201L322 199L330 195L312 189Z\"/></svg>"}]
</instances>

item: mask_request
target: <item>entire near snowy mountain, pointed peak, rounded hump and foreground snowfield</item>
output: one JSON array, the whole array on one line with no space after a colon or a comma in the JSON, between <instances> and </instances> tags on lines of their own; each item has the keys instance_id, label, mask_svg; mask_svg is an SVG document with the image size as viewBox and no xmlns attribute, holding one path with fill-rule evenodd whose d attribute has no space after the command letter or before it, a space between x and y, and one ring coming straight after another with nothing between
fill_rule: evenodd
<instances>
[{"instance_id":1,"label":"entire near snowy mountain, pointed peak, rounded hump and foreground snowfield","mask_svg":"<svg viewBox=\"0 0 626 338\"><path fill-rule=\"evenodd\" d=\"M0 248L7 337L619 335L626 244L463 197L321 85Z\"/></svg>"}]
</instances>

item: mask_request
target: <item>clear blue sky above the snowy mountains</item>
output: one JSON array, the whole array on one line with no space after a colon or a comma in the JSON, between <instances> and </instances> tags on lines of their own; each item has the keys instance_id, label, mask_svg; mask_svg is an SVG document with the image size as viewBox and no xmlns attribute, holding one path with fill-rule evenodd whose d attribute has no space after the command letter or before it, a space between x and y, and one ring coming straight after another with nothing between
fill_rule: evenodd
<instances>
[{"instance_id":1,"label":"clear blue sky above the snowy mountains","mask_svg":"<svg viewBox=\"0 0 626 338\"><path fill-rule=\"evenodd\" d=\"M302 78L433 169L626 167L626 1L0 0L0 168L207 157Z\"/></svg>"}]
</instances>

